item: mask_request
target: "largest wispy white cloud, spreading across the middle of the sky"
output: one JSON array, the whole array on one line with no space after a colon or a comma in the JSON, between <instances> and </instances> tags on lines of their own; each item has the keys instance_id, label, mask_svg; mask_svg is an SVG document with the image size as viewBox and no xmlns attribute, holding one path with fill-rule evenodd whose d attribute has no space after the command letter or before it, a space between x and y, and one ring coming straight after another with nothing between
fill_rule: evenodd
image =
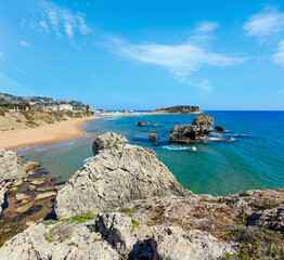
<instances>
[{"instance_id":1,"label":"largest wispy white cloud, spreading across the middle of the sky","mask_svg":"<svg viewBox=\"0 0 284 260\"><path fill-rule=\"evenodd\" d=\"M108 38L106 44L116 55L130 61L162 66L173 75L179 82L186 82L201 90L209 91L208 80L193 83L189 76L202 67L227 67L244 63L247 57L234 57L207 51L196 43L185 42L176 46L143 43L131 44L117 38Z\"/></svg>"}]
</instances>

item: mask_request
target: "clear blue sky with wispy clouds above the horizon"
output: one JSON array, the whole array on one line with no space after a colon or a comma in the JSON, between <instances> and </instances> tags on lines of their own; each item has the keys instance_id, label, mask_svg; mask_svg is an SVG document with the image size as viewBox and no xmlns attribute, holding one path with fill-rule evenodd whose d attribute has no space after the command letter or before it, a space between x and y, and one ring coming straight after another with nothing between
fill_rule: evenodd
<instances>
[{"instance_id":1,"label":"clear blue sky with wispy clouds above the horizon","mask_svg":"<svg viewBox=\"0 0 284 260\"><path fill-rule=\"evenodd\" d=\"M0 92L284 110L284 2L0 0Z\"/></svg>"}]
</instances>

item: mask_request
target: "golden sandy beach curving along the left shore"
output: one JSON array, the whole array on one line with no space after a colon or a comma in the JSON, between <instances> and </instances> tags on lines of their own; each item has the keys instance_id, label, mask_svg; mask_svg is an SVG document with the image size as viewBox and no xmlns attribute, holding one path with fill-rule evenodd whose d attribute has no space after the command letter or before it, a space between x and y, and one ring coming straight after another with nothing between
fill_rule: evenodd
<instances>
[{"instance_id":1,"label":"golden sandy beach curving along the left shore","mask_svg":"<svg viewBox=\"0 0 284 260\"><path fill-rule=\"evenodd\" d=\"M0 132L0 147L16 150L24 146L34 146L82 138L88 135L81 129L86 121L99 118L100 117L75 118L33 129L18 129Z\"/></svg>"}]
</instances>

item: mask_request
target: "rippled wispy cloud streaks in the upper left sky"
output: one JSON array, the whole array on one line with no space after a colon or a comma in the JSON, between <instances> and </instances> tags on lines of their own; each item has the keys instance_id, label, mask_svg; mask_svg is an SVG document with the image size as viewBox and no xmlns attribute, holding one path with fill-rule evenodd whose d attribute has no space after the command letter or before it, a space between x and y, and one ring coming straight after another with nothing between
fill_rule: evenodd
<instances>
[{"instance_id":1,"label":"rippled wispy cloud streaks in the upper left sky","mask_svg":"<svg viewBox=\"0 0 284 260\"><path fill-rule=\"evenodd\" d=\"M24 20L31 28L41 29L44 34L55 34L57 38L64 35L72 41L76 34L86 36L91 29L86 24L86 15L73 12L66 6L60 6L51 1L36 2L37 15L33 20Z\"/></svg>"}]
</instances>

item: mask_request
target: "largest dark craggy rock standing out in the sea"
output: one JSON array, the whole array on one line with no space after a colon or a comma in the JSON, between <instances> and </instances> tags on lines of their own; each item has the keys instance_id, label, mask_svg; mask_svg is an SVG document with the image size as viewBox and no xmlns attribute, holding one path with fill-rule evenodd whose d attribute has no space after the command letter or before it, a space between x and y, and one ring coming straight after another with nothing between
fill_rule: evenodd
<instances>
[{"instance_id":1,"label":"largest dark craggy rock standing out in the sea","mask_svg":"<svg viewBox=\"0 0 284 260\"><path fill-rule=\"evenodd\" d=\"M192 125L176 125L171 129L169 141L171 143L192 143L204 134L212 131L214 118L211 116L198 116Z\"/></svg>"}]
</instances>

